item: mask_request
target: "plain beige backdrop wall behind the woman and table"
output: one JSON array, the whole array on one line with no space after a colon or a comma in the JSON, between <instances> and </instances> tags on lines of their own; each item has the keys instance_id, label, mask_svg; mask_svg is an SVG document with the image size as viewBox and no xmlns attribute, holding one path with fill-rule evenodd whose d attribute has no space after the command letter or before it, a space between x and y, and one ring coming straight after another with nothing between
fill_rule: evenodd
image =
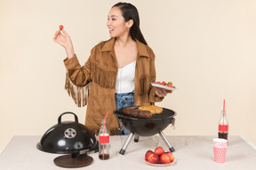
<instances>
[{"instance_id":1,"label":"plain beige backdrop wall behind the woman and table","mask_svg":"<svg viewBox=\"0 0 256 170\"><path fill-rule=\"evenodd\" d=\"M0 151L13 135L43 135L62 112L84 123L86 107L64 90L65 51L52 38L64 25L84 65L92 47L108 39L108 11L117 2L0 1ZM157 80L178 88L157 104L177 112L177 128L164 133L217 135L225 98L229 135L256 143L256 1L127 2L138 8L156 53Z\"/></svg>"}]
</instances>

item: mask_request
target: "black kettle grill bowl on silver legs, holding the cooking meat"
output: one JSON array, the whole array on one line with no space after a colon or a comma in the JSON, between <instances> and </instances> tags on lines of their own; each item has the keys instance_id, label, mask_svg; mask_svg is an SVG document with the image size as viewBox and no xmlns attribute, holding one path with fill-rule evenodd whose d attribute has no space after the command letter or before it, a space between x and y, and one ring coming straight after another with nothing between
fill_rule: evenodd
<instances>
[{"instance_id":1,"label":"black kettle grill bowl on silver legs, holding the cooking meat","mask_svg":"<svg viewBox=\"0 0 256 170\"><path fill-rule=\"evenodd\" d=\"M139 108L132 107L132 108ZM139 142L139 136L149 136L149 135L156 135L159 134L164 142L167 144L170 151L175 151L172 145L167 141L166 137L164 136L163 130L164 128L168 127L170 124L174 127L175 119L173 118L176 115L176 112L172 110L163 108L163 112L161 114L153 114L149 119L140 119L134 118L131 116L127 116L122 112L123 108L116 109L114 114L120 121L120 124L124 128L126 128L130 135L128 135L123 148L119 151L120 154L124 155L124 152L132 140L132 136L134 137L134 142Z\"/></svg>"}]
</instances>

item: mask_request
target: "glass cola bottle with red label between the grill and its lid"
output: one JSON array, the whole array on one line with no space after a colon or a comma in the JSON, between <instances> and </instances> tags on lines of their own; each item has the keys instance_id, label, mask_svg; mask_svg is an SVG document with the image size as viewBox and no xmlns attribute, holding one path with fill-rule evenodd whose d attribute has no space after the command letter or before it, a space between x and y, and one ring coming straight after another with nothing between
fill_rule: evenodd
<instances>
[{"instance_id":1,"label":"glass cola bottle with red label between the grill and its lid","mask_svg":"<svg viewBox=\"0 0 256 170\"><path fill-rule=\"evenodd\" d=\"M101 121L99 132L99 158L102 160L109 158L109 132L106 123L106 120Z\"/></svg>"}]
</instances>

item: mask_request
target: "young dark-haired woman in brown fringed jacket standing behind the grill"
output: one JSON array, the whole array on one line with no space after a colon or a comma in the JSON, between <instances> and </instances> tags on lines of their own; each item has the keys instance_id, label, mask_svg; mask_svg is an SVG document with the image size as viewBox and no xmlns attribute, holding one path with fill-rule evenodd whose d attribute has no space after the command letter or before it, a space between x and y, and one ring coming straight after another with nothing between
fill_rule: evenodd
<instances>
[{"instance_id":1,"label":"young dark-haired woman in brown fringed jacket standing behind the grill","mask_svg":"<svg viewBox=\"0 0 256 170\"><path fill-rule=\"evenodd\" d=\"M101 120L107 112L110 135L128 135L119 126L115 109L127 106L150 105L163 100L165 89L154 88L156 81L155 54L140 32L139 13L132 4L115 4L108 13L107 27L110 39L100 42L91 51L91 56L80 66L71 39L65 30L54 35L67 53L64 59L67 68L66 89L76 104L87 104L85 126L98 134Z\"/></svg>"}]
</instances>

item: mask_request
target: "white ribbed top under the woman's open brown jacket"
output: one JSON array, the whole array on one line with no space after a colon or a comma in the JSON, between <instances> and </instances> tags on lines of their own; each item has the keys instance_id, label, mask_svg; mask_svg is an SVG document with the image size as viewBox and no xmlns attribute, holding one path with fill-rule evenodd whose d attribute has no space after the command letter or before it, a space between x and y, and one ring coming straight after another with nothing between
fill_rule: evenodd
<instances>
[{"instance_id":1,"label":"white ribbed top under the woman's open brown jacket","mask_svg":"<svg viewBox=\"0 0 256 170\"><path fill-rule=\"evenodd\" d=\"M135 66L136 60L123 68L118 68L116 93L129 93L134 91Z\"/></svg>"}]
</instances>

